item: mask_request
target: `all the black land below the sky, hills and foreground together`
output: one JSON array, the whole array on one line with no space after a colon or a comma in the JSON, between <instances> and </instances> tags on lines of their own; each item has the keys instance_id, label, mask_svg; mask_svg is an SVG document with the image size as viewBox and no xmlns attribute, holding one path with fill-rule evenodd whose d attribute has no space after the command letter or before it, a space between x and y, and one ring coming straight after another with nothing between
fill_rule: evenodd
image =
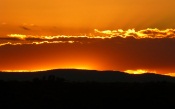
<instances>
[{"instance_id":1,"label":"all the black land below the sky, hills and foreground together","mask_svg":"<svg viewBox=\"0 0 175 109\"><path fill-rule=\"evenodd\" d=\"M119 71L57 69L0 73L0 106L27 109L170 108L174 78Z\"/></svg>"}]
</instances>

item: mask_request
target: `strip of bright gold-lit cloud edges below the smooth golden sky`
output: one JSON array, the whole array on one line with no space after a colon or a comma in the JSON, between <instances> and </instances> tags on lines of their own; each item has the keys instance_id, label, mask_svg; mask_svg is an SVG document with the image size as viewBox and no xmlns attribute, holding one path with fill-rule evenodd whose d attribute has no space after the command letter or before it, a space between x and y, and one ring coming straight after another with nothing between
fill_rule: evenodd
<instances>
[{"instance_id":1,"label":"strip of bright gold-lit cloud edges below the smooth golden sky","mask_svg":"<svg viewBox=\"0 0 175 109\"><path fill-rule=\"evenodd\" d=\"M4 45L22 45L22 44L44 44L44 43L75 43L75 39L111 39L111 38L135 38L135 39L161 39L161 38L175 38L175 29L165 29L159 30L157 28L151 29L147 28L144 30L136 31L135 29L128 30L104 30L100 31L94 29L94 33L89 33L89 35L81 36L67 36L67 35L57 35L57 36L34 36L34 35L24 35L24 34L8 34L5 37L0 37L0 46Z\"/></svg>"}]
</instances>

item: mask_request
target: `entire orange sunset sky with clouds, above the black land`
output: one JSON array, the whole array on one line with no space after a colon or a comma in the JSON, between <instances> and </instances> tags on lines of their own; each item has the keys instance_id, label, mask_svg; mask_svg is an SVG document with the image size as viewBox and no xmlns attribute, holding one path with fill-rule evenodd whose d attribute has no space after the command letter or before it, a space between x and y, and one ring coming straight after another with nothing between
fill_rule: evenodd
<instances>
[{"instance_id":1,"label":"entire orange sunset sky with clouds, above the black land","mask_svg":"<svg viewBox=\"0 0 175 109\"><path fill-rule=\"evenodd\" d=\"M0 70L175 75L174 6L174 0L1 0Z\"/></svg>"}]
</instances>

